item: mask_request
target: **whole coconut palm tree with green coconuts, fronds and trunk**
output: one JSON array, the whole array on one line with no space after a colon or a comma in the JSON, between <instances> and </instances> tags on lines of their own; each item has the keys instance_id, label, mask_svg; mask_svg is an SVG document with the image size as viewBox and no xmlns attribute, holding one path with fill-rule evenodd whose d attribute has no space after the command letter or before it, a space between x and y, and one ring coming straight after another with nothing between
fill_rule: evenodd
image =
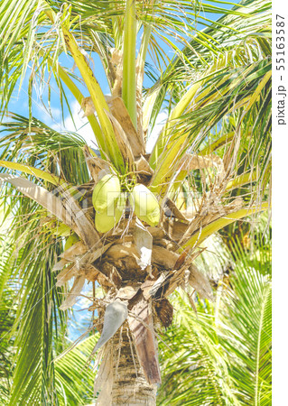
<instances>
[{"instance_id":1,"label":"whole coconut palm tree with green coconuts, fronds and trunk","mask_svg":"<svg viewBox=\"0 0 288 406\"><path fill-rule=\"evenodd\" d=\"M202 12L225 15L213 23ZM207 28L199 31L196 21ZM172 323L169 296L190 284L212 300L193 265L203 243L269 206L270 25L265 0L230 11L186 0L2 2L0 177L15 245L13 266L4 269L5 280L20 282L10 404L59 402L52 360L85 281L93 285L88 332L101 332L92 352L100 348L102 359L98 404L155 403L157 337ZM76 71L60 64L63 52ZM27 80L29 118L9 112L16 85ZM78 134L33 117L33 87L43 86L48 109L54 86L62 111L72 93L100 156ZM147 153L147 134L163 110L167 120Z\"/></svg>"}]
</instances>

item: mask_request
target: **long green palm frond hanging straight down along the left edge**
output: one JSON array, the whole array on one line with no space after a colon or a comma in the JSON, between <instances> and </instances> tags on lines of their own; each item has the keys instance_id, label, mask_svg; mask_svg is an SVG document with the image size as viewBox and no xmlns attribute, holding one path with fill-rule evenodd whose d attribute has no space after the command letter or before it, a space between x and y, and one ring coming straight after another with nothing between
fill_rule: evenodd
<instances>
[{"instance_id":1,"label":"long green palm frond hanging straight down along the left edge","mask_svg":"<svg viewBox=\"0 0 288 406\"><path fill-rule=\"evenodd\" d=\"M6 260L13 270L10 280L21 281L14 288L17 295L13 305L17 310L13 329L8 332L9 338L15 337L16 349L9 404L56 401L51 360L57 341L62 339L60 330L66 324L65 313L58 313L61 292L56 290L55 277L51 274L52 263L61 252L61 242L41 232L42 210L26 198L21 199L17 208L13 203L19 203L19 198L10 196L16 217L11 224L14 232L10 231L9 235L18 246Z\"/></svg>"}]
</instances>

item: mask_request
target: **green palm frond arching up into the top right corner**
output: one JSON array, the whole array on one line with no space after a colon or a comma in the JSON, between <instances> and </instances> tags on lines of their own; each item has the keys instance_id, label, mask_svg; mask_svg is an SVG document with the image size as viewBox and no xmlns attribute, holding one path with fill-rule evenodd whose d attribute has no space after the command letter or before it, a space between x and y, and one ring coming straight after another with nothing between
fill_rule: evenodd
<instances>
[{"instance_id":1,"label":"green palm frond arching up into the top right corner","mask_svg":"<svg viewBox=\"0 0 288 406\"><path fill-rule=\"evenodd\" d=\"M161 109L168 107L170 113L190 83L219 58L225 56L224 63L237 68L271 55L271 2L246 0L235 5L234 10L244 14L222 15L203 31L192 32L191 40L175 52L160 78L154 78L152 88L146 89L148 97L158 94L153 102L152 128ZM229 58L231 51L233 57Z\"/></svg>"}]
</instances>

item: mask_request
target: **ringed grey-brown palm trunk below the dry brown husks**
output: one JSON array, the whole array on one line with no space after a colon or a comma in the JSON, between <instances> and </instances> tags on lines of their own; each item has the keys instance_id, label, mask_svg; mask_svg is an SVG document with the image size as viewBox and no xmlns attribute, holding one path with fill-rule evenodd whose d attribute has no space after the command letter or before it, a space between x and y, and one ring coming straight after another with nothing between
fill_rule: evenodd
<instances>
[{"instance_id":1,"label":"ringed grey-brown palm trunk below the dry brown husks","mask_svg":"<svg viewBox=\"0 0 288 406\"><path fill-rule=\"evenodd\" d=\"M106 347L103 359L110 357L110 393L111 398L103 396L97 405L105 406L154 406L156 405L157 386L147 383L138 362L131 333L125 323ZM100 368L101 369L101 368ZM100 374L100 371L99 371ZM108 373L109 374L109 373Z\"/></svg>"}]
</instances>

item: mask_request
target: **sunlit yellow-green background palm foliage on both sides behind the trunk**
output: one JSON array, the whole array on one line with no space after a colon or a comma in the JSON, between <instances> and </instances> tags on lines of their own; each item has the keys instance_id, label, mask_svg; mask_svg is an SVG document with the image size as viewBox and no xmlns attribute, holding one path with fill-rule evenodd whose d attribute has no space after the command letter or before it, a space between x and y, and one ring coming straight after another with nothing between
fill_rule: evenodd
<instances>
[{"instance_id":1,"label":"sunlit yellow-green background palm foliage on both sides behind the trunk","mask_svg":"<svg viewBox=\"0 0 288 406\"><path fill-rule=\"evenodd\" d=\"M261 220L248 248L232 237L229 249L220 237L209 239L210 254L198 264L209 271L217 268L215 303L198 296L193 309L186 292L174 294L176 317L160 341L163 383L157 404L272 404L271 230L265 230L267 218ZM11 302L3 300L3 332L13 326L13 317L5 319L7 309L11 316ZM95 372L87 361L97 341L98 334L87 337L57 360L60 404L93 401ZM63 347L71 344L66 340ZM12 348L7 340L2 345L3 399L13 376Z\"/></svg>"}]
</instances>

